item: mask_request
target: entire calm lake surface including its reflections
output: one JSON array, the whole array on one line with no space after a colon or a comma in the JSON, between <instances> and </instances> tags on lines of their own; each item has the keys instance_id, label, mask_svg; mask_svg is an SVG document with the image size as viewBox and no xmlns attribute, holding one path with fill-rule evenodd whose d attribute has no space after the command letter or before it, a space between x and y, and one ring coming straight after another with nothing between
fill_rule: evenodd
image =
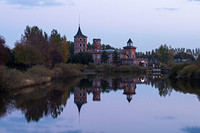
<instances>
[{"instance_id":1,"label":"entire calm lake surface including its reflections","mask_svg":"<svg viewBox=\"0 0 200 133\"><path fill-rule=\"evenodd\" d=\"M1 93L1 133L199 133L200 87L92 76Z\"/></svg>"}]
</instances>

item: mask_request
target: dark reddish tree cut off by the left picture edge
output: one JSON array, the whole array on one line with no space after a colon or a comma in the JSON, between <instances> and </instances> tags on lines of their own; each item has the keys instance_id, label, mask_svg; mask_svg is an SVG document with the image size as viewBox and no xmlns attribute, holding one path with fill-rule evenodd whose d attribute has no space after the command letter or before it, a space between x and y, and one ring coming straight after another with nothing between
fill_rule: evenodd
<instances>
[{"instance_id":1,"label":"dark reddish tree cut off by the left picture edge","mask_svg":"<svg viewBox=\"0 0 200 133\"><path fill-rule=\"evenodd\" d=\"M11 59L11 51L5 46L5 39L0 36L0 65L7 64Z\"/></svg>"}]
</instances>

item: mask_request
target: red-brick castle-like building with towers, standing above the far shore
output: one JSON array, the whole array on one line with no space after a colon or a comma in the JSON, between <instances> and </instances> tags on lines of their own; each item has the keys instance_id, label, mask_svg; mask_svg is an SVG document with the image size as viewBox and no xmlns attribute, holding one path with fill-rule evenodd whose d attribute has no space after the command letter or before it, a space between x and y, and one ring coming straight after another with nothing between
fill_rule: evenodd
<instances>
[{"instance_id":1,"label":"red-brick castle-like building with towers, standing above the far shore","mask_svg":"<svg viewBox=\"0 0 200 133\"><path fill-rule=\"evenodd\" d=\"M101 39L93 39L93 45L91 48L87 48L87 36L83 35L80 29L78 28L77 34L74 36L74 53L79 52L90 52L92 53L94 63L99 65L101 64L101 55L103 51L106 51L108 55L107 63L113 64L114 50L107 49L101 50ZM121 65L132 66L134 64L147 67L148 59L136 58L136 47L133 46L131 39L128 40L127 46L123 47L123 50L118 50L118 55L120 58Z\"/></svg>"}]
</instances>

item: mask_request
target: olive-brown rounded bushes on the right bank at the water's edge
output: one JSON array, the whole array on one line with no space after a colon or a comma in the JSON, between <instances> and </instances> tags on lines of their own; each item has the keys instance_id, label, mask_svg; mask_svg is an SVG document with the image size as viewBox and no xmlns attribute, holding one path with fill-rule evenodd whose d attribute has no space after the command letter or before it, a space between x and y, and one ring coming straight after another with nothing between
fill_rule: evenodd
<instances>
[{"instance_id":1,"label":"olive-brown rounded bushes on the right bank at the water's edge","mask_svg":"<svg viewBox=\"0 0 200 133\"><path fill-rule=\"evenodd\" d=\"M200 67L191 63L176 64L172 67L169 77L184 80L200 79Z\"/></svg>"}]
</instances>

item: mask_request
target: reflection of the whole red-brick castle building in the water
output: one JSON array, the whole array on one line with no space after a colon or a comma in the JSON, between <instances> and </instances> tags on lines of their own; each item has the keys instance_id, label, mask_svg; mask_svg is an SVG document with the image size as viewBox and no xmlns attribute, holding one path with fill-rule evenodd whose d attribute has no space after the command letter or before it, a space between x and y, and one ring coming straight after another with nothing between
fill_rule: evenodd
<instances>
[{"instance_id":1,"label":"reflection of the whole red-brick castle building in the water","mask_svg":"<svg viewBox=\"0 0 200 133\"><path fill-rule=\"evenodd\" d=\"M114 82L115 81L115 82ZM107 79L107 80L101 80L99 78L95 78L92 82L92 86L90 88L81 89L79 87L75 87L74 89L74 103L76 103L78 110L80 112L81 107L83 104L87 103L87 93L93 94L93 101L101 101L101 92L102 91L113 91L114 86L115 89L123 90L123 94L126 95L127 101L131 102L133 95L136 94L136 84L147 84L147 78L141 77L141 78L121 78L120 79ZM116 83L116 81L118 83ZM103 86L106 86L103 89Z\"/></svg>"}]
</instances>

